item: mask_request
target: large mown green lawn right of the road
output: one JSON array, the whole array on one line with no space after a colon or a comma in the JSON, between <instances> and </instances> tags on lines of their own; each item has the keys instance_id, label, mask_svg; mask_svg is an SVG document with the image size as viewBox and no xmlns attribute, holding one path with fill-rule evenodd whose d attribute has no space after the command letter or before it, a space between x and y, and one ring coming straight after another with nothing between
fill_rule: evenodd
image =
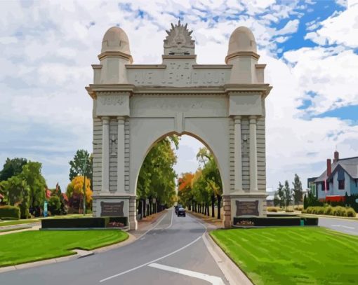
<instances>
[{"instance_id":1,"label":"large mown green lawn right of the road","mask_svg":"<svg viewBox=\"0 0 358 285\"><path fill-rule=\"evenodd\" d=\"M358 237L326 228L214 230L253 284L358 284Z\"/></svg>"}]
</instances>

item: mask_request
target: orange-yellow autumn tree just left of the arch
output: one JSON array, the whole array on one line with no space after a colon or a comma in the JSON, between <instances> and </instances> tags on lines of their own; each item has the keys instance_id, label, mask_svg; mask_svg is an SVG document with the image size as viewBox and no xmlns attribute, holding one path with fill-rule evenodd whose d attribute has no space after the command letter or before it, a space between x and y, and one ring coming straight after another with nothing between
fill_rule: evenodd
<instances>
[{"instance_id":1,"label":"orange-yellow autumn tree just left of the arch","mask_svg":"<svg viewBox=\"0 0 358 285\"><path fill-rule=\"evenodd\" d=\"M81 209L84 199L84 176L76 176L68 184L66 195L69 199L70 207ZM86 209L92 208L91 180L86 177Z\"/></svg>"}]
</instances>

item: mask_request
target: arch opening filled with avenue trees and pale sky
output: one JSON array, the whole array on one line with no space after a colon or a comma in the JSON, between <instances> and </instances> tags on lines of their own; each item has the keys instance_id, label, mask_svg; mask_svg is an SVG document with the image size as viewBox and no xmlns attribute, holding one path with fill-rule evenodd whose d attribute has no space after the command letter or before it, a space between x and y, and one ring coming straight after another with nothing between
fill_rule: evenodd
<instances>
[{"instance_id":1,"label":"arch opening filled with avenue trees and pale sky","mask_svg":"<svg viewBox=\"0 0 358 285\"><path fill-rule=\"evenodd\" d=\"M221 218L223 183L218 160L194 134L164 134L150 144L135 185L138 221L180 204Z\"/></svg>"}]
</instances>

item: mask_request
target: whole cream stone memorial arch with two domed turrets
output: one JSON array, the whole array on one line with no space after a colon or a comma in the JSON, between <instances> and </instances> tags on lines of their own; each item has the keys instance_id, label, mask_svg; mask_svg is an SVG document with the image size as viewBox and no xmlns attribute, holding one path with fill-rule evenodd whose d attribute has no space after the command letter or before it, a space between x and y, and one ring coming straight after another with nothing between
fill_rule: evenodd
<instances>
[{"instance_id":1,"label":"whole cream stone memorial arch with two domed turrets","mask_svg":"<svg viewBox=\"0 0 358 285\"><path fill-rule=\"evenodd\" d=\"M223 181L224 225L266 215L265 64L253 33L230 36L226 64L197 64L192 32L171 25L161 64L133 64L128 36L112 27L93 64L93 215L128 216L145 155L168 134L190 134L213 152ZM220 55L216 55L220 56Z\"/></svg>"}]
</instances>

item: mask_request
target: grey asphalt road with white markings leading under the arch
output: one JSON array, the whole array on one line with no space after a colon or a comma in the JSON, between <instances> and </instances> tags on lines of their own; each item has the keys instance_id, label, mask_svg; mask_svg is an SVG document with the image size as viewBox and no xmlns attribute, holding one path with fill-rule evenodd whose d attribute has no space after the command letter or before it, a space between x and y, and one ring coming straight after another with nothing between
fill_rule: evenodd
<instances>
[{"instance_id":1,"label":"grey asphalt road with white markings leading under the arch","mask_svg":"<svg viewBox=\"0 0 358 285\"><path fill-rule=\"evenodd\" d=\"M1 285L228 284L206 249L204 225L170 209L135 242L93 256L0 274Z\"/></svg>"}]
</instances>

